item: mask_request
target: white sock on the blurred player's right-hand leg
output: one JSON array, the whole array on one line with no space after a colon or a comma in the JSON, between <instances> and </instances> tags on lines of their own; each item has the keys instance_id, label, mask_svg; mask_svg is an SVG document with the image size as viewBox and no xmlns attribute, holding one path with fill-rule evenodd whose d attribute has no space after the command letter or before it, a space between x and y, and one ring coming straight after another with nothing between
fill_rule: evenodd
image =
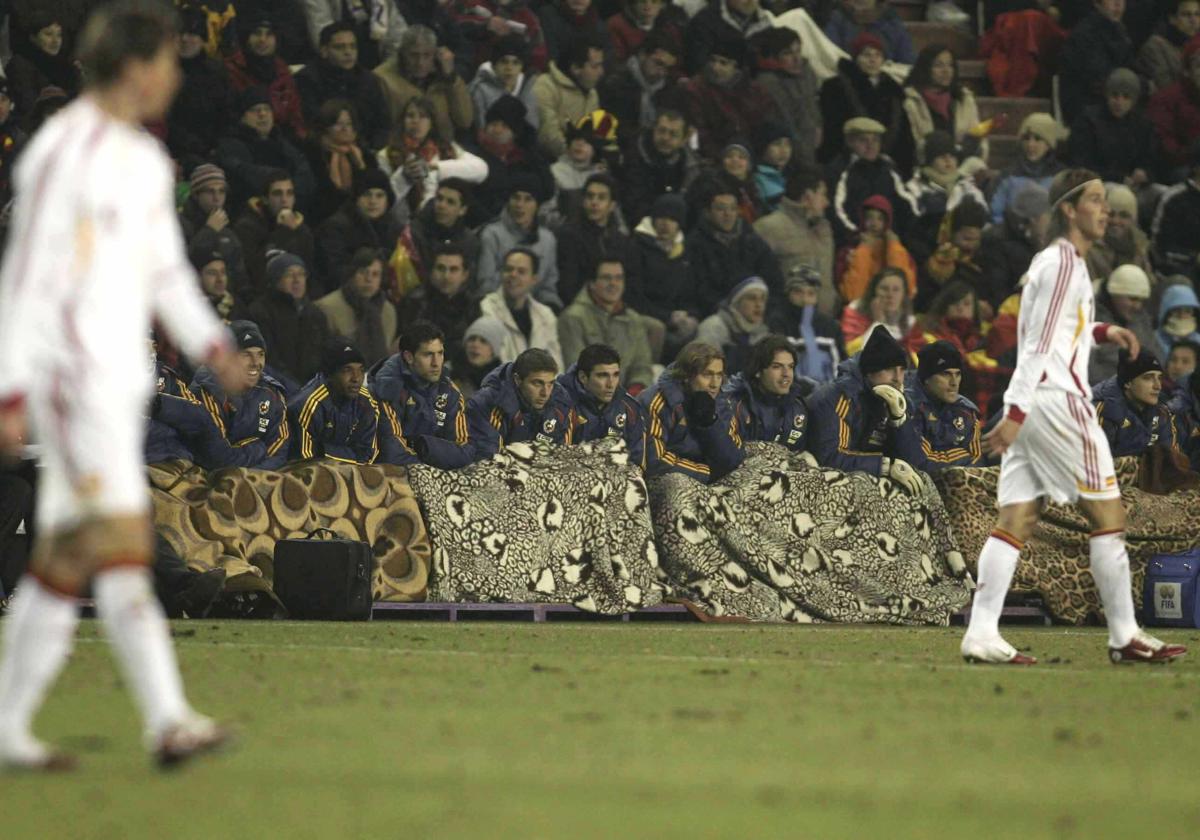
<instances>
[{"instance_id":1,"label":"white sock on the blurred player's right-hand leg","mask_svg":"<svg viewBox=\"0 0 1200 840\"><path fill-rule=\"evenodd\" d=\"M96 613L116 650L146 731L157 736L184 720L190 709L170 630L150 586L150 571L128 566L102 571L94 590Z\"/></svg>"}]
</instances>

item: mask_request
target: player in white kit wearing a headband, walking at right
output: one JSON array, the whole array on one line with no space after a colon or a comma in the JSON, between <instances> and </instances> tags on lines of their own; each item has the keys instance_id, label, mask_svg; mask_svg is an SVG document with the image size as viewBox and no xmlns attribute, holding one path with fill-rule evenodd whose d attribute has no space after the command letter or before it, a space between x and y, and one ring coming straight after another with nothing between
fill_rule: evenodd
<instances>
[{"instance_id":1,"label":"player in white kit wearing a headband, walking at right","mask_svg":"<svg viewBox=\"0 0 1200 840\"><path fill-rule=\"evenodd\" d=\"M1076 504L1091 523L1091 569L1108 619L1109 658L1118 664L1168 661L1187 649L1138 626L1121 488L1087 384L1094 342L1111 342L1133 356L1139 350L1132 331L1094 322L1084 260L1108 226L1104 184L1087 169L1064 170L1050 185L1050 203L1054 240L1033 258L1021 292L1016 371L1004 391L1004 416L984 438L990 452L1003 455L1000 520L979 554L961 653L970 662L1037 662L1001 637L998 623L1018 556L1049 497Z\"/></svg>"}]
</instances>

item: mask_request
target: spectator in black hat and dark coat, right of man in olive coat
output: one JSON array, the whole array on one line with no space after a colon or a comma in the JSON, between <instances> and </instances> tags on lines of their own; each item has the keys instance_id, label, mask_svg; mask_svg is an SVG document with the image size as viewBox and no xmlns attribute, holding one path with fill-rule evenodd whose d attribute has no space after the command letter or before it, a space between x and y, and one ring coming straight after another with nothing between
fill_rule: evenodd
<instances>
[{"instance_id":1,"label":"spectator in black hat and dark coat, right of man in olive coat","mask_svg":"<svg viewBox=\"0 0 1200 840\"><path fill-rule=\"evenodd\" d=\"M686 308L691 288L690 263L684 246L683 223L688 208L683 198L664 193L655 199L634 230L638 274L626 281L625 300L648 322L650 353L656 362L673 358L691 341L700 325L700 310Z\"/></svg>"}]
</instances>

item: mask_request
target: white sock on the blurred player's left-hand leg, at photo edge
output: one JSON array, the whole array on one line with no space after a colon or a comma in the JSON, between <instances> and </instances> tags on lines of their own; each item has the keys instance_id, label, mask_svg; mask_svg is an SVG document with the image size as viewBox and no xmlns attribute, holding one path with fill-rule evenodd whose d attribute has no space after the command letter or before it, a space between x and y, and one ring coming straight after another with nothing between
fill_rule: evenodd
<instances>
[{"instance_id":1,"label":"white sock on the blurred player's left-hand leg, at photo edge","mask_svg":"<svg viewBox=\"0 0 1200 840\"><path fill-rule=\"evenodd\" d=\"M44 755L32 736L47 690L71 655L79 605L25 575L4 626L0 661L0 757L32 761Z\"/></svg>"}]
</instances>

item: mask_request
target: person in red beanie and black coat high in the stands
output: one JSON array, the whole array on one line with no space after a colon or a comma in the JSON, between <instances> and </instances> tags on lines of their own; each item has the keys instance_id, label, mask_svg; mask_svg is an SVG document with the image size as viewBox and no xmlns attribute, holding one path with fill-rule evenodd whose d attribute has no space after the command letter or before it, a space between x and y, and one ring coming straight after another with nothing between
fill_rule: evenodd
<instances>
[{"instance_id":1,"label":"person in red beanie and black coat high in the stands","mask_svg":"<svg viewBox=\"0 0 1200 840\"><path fill-rule=\"evenodd\" d=\"M826 163L846 148L844 126L854 118L870 118L882 128L881 149L901 160L912 143L904 113L904 89L883 72L883 42L870 34L854 38L848 59L838 61L838 74L821 85L823 131L817 160Z\"/></svg>"}]
</instances>

